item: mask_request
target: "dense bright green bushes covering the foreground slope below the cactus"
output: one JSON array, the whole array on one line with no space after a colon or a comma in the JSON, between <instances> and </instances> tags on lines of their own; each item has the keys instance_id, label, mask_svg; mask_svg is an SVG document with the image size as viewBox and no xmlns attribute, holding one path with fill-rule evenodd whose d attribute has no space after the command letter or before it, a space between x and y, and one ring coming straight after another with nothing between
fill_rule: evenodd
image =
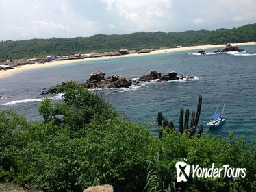
<instances>
[{"instance_id":1,"label":"dense bright green bushes covering the foreground slope below the cactus","mask_svg":"<svg viewBox=\"0 0 256 192\"><path fill-rule=\"evenodd\" d=\"M255 145L164 132L132 123L101 97L74 82L59 86L64 101L44 99L43 121L27 121L12 110L0 112L0 182L27 189L82 191L112 184L114 191L255 191ZM175 182L175 163L246 168L245 178L192 178ZM191 174L190 174L191 175Z\"/></svg>"}]
</instances>

